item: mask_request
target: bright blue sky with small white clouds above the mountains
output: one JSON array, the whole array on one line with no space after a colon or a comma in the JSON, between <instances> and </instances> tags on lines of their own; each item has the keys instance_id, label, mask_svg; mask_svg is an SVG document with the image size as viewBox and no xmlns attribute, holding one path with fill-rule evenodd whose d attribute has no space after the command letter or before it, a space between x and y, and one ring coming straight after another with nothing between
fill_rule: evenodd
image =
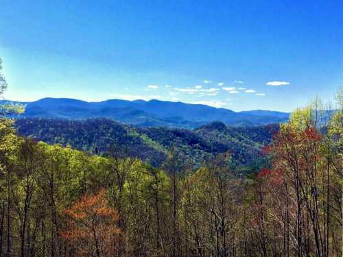
<instances>
[{"instance_id":1,"label":"bright blue sky with small white clouds above the mountains","mask_svg":"<svg viewBox=\"0 0 343 257\"><path fill-rule=\"evenodd\" d=\"M12 100L290 111L343 82L343 1L1 0L0 56Z\"/></svg>"}]
</instances>

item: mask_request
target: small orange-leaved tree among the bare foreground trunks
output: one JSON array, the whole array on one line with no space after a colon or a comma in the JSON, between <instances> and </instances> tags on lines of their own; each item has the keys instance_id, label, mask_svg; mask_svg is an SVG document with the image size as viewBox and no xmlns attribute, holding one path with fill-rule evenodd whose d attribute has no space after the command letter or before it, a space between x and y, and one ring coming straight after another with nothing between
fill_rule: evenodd
<instances>
[{"instance_id":1,"label":"small orange-leaved tree among the bare foreground trunks","mask_svg":"<svg viewBox=\"0 0 343 257\"><path fill-rule=\"evenodd\" d=\"M70 209L67 216L67 230L62 238L71 243L74 256L115 256L121 230L118 228L117 210L110 208L106 190L97 195L84 195Z\"/></svg>"}]
</instances>

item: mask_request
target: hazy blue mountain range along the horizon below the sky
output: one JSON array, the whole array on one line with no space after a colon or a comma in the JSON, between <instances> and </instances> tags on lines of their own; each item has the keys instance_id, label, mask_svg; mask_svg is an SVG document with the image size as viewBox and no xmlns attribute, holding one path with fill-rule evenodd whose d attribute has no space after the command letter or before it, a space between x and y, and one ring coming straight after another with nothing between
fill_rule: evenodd
<instances>
[{"instance_id":1,"label":"hazy blue mountain range along the horizon below the sky","mask_svg":"<svg viewBox=\"0 0 343 257\"><path fill-rule=\"evenodd\" d=\"M4 101L2 101L4 102ZM8 102L8 101L7 101ZM1 102L0 102L1 103ZM212 121L227 125L263 125L287 121L289 113L269 110L234 112L200 104L171 101L126 101L110 99L87 102L67 98L43 98L23 102L25 113L21 117L54 119L107 118L138 126L166 126L195 128Z\"/></svg>"}]
</instances>

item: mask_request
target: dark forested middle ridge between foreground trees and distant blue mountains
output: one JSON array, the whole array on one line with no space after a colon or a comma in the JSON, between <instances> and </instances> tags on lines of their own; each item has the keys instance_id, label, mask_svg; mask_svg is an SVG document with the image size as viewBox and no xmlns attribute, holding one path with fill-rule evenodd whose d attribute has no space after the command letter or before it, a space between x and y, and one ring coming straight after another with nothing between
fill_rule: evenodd
<instances>
[{"instance_id":1,"label":"dark forested middle ridge between foreground trees and distant blue mountains","mask_svg":"<svg viewBox=\"0 0 343 257\"><path fill-rule=\"evenodd\" d=\"M228 127L213 122L196 130L167 127L133 127L108 119L84 121L18 119L18 133L46 143L70 145L91 154L106 156L121 151L159 167L171 151L177 151L191 167L200 167L215 154L230 151L237 166L261 162L261 148L270 143L279 125Z\"/></svg>"}]
</instances>

